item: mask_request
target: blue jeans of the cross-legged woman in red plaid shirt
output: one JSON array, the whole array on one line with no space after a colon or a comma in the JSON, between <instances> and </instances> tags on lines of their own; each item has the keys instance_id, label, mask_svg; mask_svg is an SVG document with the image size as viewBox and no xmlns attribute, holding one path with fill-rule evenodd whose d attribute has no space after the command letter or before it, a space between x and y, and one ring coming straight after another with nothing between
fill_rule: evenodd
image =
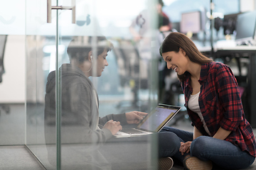
<instances>
[{"instance_id":1,"label":"blue jeans of the cross-legged woman in red plaid shirt","mask_svg":"<svg viewBox=\"0 0 256 170\"><path fill-rule=\"evenodd\" d=\"M171 127L164 127L161 132L175 133L180 142L192 141L189 153L191 156L198 157L202 161L210 160L215 166L219 166L222 169L246 169L255 161L255 157L252 157L248 152L242 151L239 147L225 140L207 136L201 136L193 140L193 132ZM172 156L183 162L186 154L181 155L180 152L176 152L169 157Z\"/></svg>"}]
</instances>

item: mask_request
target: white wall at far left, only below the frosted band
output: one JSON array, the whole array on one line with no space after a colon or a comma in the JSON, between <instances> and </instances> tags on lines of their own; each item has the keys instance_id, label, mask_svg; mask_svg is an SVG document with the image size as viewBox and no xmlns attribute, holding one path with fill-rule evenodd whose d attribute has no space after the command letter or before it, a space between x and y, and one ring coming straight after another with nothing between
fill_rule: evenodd
<instances>
[{"instance_id":1,"label":"white wall at far left, only below the frosted band","mask_svg":"<svg viewBox=\"0 0 256 170\"><path fill-rule=\"evenodd\" d=\"M0 103L25 102L25 35L8 35Z\"/></svg>"}]
</instances>

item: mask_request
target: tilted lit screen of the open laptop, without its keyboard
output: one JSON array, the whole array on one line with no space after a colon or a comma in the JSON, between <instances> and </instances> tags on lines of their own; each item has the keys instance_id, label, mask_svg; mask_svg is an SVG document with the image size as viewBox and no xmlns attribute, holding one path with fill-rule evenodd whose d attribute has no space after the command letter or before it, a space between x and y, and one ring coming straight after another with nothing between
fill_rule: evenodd
<instances>
[{"instance_id":1,"label":"tilted lit screen of the open laptop, without its keyboard","mask_svg":"<svg viewBox=\"0 0 256 170\"><path fill-rule=\"evenodd\" d=\"M181 110L178 106L159 104L142 120L137 128L149 132L159 132Z\"/></svg>"}]
</instances>

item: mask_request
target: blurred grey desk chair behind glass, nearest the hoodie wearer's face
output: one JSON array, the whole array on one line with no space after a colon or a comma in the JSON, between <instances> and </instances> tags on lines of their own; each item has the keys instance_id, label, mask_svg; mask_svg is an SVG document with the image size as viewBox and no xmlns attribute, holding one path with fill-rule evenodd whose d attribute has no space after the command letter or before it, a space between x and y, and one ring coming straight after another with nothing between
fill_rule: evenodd
<instances>
[{"instance_id":1,"label":"blurred grey desk chair behind glass, nearest the hoodie wearer's face","mask_svg":"<svg viewBox=\"0 0 256 170\"><path fill-rule=\"evenodd\" d=\"M147 77L142 78L139 74L141 65L139 64L139 52L132 40L117 40L117 47L114 47L114 55L117 57L118 73L121 86L128 85L134 95L133 101L120 101L117 108L121 112L127 111L147 111L148 101L139 98L139 89L148 89Z\"/></svg>"}]
</instances>

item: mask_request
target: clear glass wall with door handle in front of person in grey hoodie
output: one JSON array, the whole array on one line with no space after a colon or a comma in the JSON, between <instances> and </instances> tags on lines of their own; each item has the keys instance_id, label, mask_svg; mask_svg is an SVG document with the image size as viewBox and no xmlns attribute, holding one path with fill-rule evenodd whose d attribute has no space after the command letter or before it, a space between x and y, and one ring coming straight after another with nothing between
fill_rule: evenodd
<instances>
[{"instance_id":1,"label":"clear glass wall with door handle in front of person in grey hoodie","mask_svg":"<svg viewBox=\"0 0 256 170\"><path fill-rule=\"evenodd\" d=\"M156 1L50 6L65 9L47 22L46 1L26 1L26 145L46 169L156 169L154 135L112 137L158 102Z\"/></svg>"}]
</instances>

